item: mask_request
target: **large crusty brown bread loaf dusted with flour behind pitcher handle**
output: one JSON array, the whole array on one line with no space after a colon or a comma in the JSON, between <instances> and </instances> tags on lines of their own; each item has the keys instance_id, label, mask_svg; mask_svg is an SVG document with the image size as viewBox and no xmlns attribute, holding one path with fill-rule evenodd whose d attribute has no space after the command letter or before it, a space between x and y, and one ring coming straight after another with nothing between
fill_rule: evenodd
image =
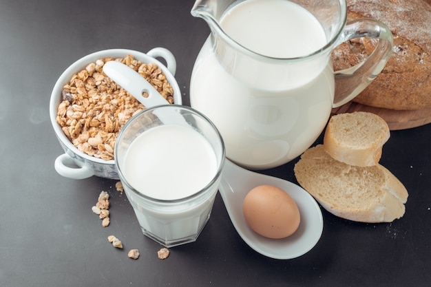
<instances>
[{"instance_id":1,"label":"large crusty brown bread loaf dusted with flour behind pitcher handle","mask_svg":"<svg viewBox=\"0 0 431 287\"><path fill-rule=\"evenodd\" d=\"M379 20L394 36L386 67L354 101L386 109L431 107L431 6L424 0L347 0L347 8L348 19ZM333 51L334 70L363 61L376 41L365 38L339 45Z\"/></svg>"}]
</instances>

